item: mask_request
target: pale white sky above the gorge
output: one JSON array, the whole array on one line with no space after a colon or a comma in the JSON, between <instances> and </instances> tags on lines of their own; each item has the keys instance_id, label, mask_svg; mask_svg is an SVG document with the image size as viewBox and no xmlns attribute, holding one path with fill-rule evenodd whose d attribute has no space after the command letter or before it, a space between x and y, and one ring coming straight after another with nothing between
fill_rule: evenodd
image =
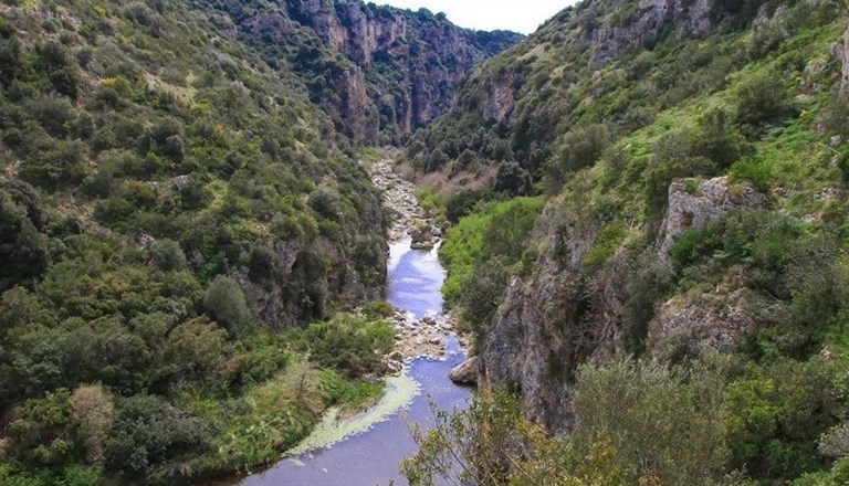
<instances>
[{"instance_id":1,"label":"pale white sky above the gorge","mask_svg":"<svg viewBox=\"0 0 849 486\"><path fill-rule=\"evenodd\" d=\"M460 27L478 30L506 29L523 34L535 31L541 23L575 3L576 0L371 0L402 9L426 8L433 13L446 12Z\"/></svg>"}]
</instances>

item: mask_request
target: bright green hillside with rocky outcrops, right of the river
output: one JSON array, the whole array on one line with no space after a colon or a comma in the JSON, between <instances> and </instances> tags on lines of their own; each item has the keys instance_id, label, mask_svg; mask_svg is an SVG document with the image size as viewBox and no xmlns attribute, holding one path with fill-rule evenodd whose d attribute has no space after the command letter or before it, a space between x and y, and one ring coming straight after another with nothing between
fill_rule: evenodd
<instances>
[{"instance_id":1,"label":"bright green hillside with rocky outcrops, right of the river","mask_svg":"<svg viewBox=\"0 0 849 486\"><path fill-rule=\"evenodd\" d=\"M415 136L412 168L437 190L492 178L442 194L459 220L449 297L478 330L483 382L574 429L551 464L623 472L605 484L772 484L846 455L846 30L830 1L584 1L473 70ZM534 199L492 201L539 193L538 219ZM686 402L711 350L730 367L716 401ZM682 430L710 432L636 450L682 408ZM663 469L690 440L717 448L699 472ZM842 484L838 464L798 484Z\"/></svg>"}]
</instances>

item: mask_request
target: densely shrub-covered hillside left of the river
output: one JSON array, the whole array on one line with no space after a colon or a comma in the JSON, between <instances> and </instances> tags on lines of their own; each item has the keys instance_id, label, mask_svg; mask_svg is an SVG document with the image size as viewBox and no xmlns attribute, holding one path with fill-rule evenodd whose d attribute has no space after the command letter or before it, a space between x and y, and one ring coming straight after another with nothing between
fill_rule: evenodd
<instances>
[{"instance_id":1,"label":"densely shrub-covered hillside left of the river","mask_svg":"<svg viewBox=\"0 0 849 486\"><path fill-rule=\"evenodd\" d=\"M0 4L0 484L250 466L380 390L390 328L302 330L382 295L378 192L219 18Z\"/></svg>"}]
</instances>

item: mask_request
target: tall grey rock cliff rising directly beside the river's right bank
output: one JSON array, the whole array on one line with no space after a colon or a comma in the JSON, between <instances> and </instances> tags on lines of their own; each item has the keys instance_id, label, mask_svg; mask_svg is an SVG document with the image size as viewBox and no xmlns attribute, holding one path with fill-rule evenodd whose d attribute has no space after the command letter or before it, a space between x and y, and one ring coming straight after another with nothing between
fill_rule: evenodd
<instances>
[{"instance_id":1,"label":"tall grey rock cliff rising directly beside the river's right bank","mask_svg":"<svg viewBox=\"0 0 849 486\"><path fill-rule=\"evenodd\" d=\"M594 352L578 324L587 303L577 268L598 228L560 225L564 220L557 205L543 212L533 236L545 241L539 270L510 284L480 366L483 387L521 391L527 416L552 430L570 423L569 373Z\"/></svg>"}]
</instances>

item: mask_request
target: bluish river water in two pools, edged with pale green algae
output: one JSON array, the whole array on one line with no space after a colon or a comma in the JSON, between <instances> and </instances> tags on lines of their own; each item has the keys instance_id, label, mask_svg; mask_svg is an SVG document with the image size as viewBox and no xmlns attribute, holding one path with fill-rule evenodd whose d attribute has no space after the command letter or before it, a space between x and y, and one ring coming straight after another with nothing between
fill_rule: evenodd
<instances>
[{"instance_id":1,"label":"bluish river water in two pools, edged with pale green algae","mask_svg":"<svg viewBox=\"0 0 849 486\"><path fill-rule=\"evenodd\" d=\"M442 311L444 271L437 251L409 249L409 240L391 246L388 296L396 307L417 319ZM432 424L437 408L463 408L471 390L454 385L446 373L465 358L452 337L446 337L446 359L424 357L408 362L401 377L387 381L384 399L368 412L336 422L331 412L290 456L270 469L242 479L244 486L373 486L403 485L398 464L417 451L409 424Z\"/></svg>"}]
</instances>

